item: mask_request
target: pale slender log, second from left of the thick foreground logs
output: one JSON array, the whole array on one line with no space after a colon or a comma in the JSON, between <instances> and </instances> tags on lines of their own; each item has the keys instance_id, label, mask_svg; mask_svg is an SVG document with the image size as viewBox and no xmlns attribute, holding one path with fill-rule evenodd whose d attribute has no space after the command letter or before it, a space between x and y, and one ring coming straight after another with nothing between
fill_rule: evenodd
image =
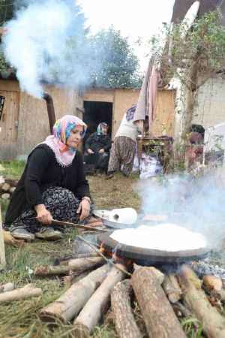
<instances>
[{"instance_id":1,"label":"pale slender log, second from left of the thick foreground logs","mask_svg":"<svg viewBox=\"0 0 225 338\"><path fill-rule=\"evenodd\" d=\"M125 278L125 274L120 271L117 266L118 268L120 267L124 270L126 269L125 266L121 264L113 266L104 282L90 297L83 310L74 321L75 329L73 334L76 338L83 337L83 332L91 332L94 326L101 319L103 312L106 312L110 300L111 290L119 281Z\"/></svg>"}]
</instances>

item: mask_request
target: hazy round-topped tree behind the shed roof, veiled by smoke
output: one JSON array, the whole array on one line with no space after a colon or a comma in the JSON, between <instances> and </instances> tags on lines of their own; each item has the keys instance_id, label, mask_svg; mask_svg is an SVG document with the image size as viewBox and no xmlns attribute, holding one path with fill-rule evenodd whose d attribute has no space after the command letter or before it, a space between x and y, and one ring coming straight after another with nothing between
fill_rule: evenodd
<instances>
[{"instance_id":1,"label":"hazy round-topped tree behind the shed roof, veiled by smoke","mask_svg":"<svg viewBox=\"0 0 225 338\"><path fill-rule=\"evenodd\" d=\"M139 63L128 39L113 27L91 38L93 58L92 84L97 87L140 87ZM98 60L99 59L99 60ZM101 64L101 66L99 66Z\"/></svg>"}]
</instances>

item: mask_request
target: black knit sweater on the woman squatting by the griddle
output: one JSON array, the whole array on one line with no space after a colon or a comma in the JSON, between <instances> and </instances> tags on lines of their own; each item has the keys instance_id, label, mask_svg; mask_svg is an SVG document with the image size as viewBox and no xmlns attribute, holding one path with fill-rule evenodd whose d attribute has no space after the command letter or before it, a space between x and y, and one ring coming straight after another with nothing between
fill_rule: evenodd
<instances>
[{"instance_id":1,"label":"black knit sweater on the woman squatting by the griddle","mask_svg":"<svg viewBox=\"0 0 225 338\"><path fill-rule=\"evenodd\" d=\"M43 204L42 193L50 187L62 187L76 197L90 197L89 185L83 170L83 157L79 151L68 167L58 164L54 152L45 144L37 146L29 155L26 167L10 200L5 223L11 224L22 212Z\"/></svg>"}]
</instances>

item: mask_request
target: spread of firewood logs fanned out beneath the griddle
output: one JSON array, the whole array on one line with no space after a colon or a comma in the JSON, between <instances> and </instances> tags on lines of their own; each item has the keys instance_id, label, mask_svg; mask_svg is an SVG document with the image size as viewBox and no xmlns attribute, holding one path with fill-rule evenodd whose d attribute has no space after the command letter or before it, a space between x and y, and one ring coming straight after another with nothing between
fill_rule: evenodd
<instances>
[{"instance_id":1,"label":"spread of firewood logs fanned out beneath the griddle","mask_svg":"<svg viewBox=\"0 0 225 338\"><path fill-rule=\"evenodd\" d=\"M219 278L200 280L187 265L165 275L154 267L113 263L100 255L78 254L57 266L36 268L34 275L61 275L68 284L64 294L41 309L41 320L51 325L73 320L74 337L89 337L111 303L118 336L140 338L143 332L134 316L137 303L151 338L186 337L179 319L190 317L202 324L206 337L225 337L225 290Z\"/></svg>"}]
</instances>

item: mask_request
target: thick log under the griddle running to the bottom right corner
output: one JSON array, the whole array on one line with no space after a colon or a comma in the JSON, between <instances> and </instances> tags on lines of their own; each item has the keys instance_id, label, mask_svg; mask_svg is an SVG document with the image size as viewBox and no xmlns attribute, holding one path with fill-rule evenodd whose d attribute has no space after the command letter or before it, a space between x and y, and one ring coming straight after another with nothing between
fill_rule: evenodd
<instances>
[{"instance_id":1,"label":"thick log under the griddle running to the bottom right corner","mask_svg":"<svg viewBox=\"0 0 225 338\"><path fill-rule=\"evenodd\" d=\"M196 288L193 283L194 272L187 266L183 266L179 274L179 283L184 293L184 299L194 312L198 320L201 321L203 331L210 338L225 337L225 317L221 316L215 307L213 307L203 290ZM195 275L194 280L198 278Z\"/></svg>"}]
</instances>

